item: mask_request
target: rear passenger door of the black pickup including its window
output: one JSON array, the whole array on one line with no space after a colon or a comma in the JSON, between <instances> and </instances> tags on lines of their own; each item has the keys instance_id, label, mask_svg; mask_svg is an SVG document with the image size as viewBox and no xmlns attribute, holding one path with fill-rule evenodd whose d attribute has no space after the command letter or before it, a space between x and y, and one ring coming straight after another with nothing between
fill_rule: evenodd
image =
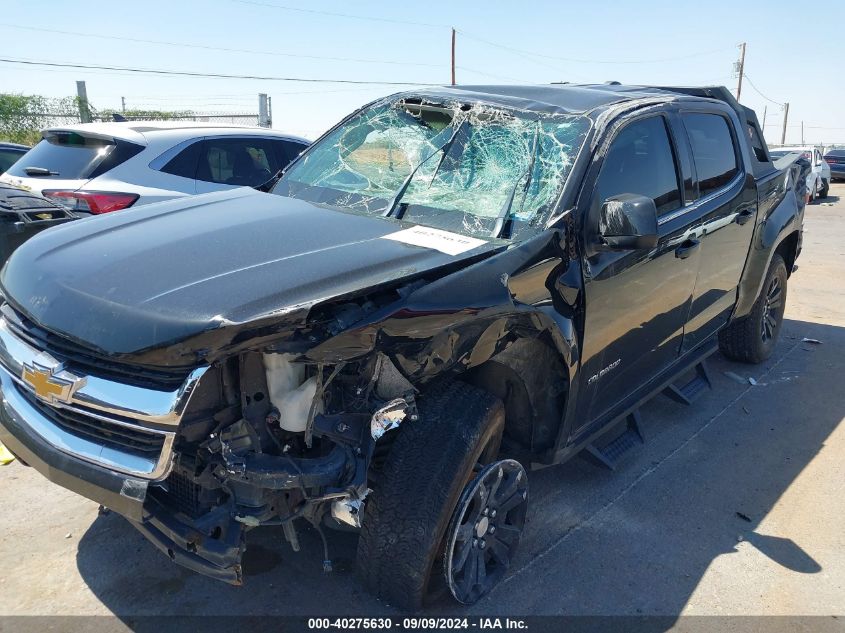
<instances>
[{"instance_id":1,"label":"rear passenger door of the black pickup including its window","mask_svg":"<svg viewBox=\"0 0 845 633\"><path fill-rule=\"evenodd\" d=\"M701 261L682 351L712 336L733 310L757 214L757 189L742 159L733 119L719 109L684 109L694 170L694 200Z\"/></svg>"}]
</instances>

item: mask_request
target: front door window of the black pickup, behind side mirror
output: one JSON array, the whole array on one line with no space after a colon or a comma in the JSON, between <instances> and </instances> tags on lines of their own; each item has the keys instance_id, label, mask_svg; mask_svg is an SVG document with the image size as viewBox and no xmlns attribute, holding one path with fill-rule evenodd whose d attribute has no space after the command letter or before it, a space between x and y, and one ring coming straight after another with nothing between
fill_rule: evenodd
<instances>
[{"instance_id":1,"label":"front door window of the black pickup, behind side mirror","mask_svg":"<svg viewBox=\"0 0 845 633\"><path fill-rule=\"evenodd\" d=\"M658 214L681 206L678 170L663 117L634 121L610 144L596 181L594 211L622 193L652 198Z\"/></svg>"}]
</instances>

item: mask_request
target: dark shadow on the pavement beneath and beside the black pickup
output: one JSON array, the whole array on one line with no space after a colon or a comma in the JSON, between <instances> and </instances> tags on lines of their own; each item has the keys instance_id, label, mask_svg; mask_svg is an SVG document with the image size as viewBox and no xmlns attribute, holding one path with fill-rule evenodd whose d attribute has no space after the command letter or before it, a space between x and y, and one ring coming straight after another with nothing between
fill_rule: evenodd
<instances>
[{"instance_id":1,"label":"dark shadow on the pavement beneath and beside the black pickup","mask_svg":"<svg viewBox=\"0 0 845 633\"><path fill-rule=\"evenodd\" d=\"M642 408L648 442L616 472L580 459L532 472L528 527L509 577L473 607L444 599L426 612L672 616L656 625L665 629L714 561L743 541L779 568L818 573L812 543L770 534L763 520L845 416L839 378L827 369L843 348L845 328L788 320L763 365L715 356L714 390L692 407L657 397ZM245 585L232 587L171 564L109 514L82 537L77 566L127 623L143 615L400 615L357 582L356 536L329 536L334 571L326 574L312 530L301 530L299 553L281 530L254 530Z\"/></svg>"}]
</instances>

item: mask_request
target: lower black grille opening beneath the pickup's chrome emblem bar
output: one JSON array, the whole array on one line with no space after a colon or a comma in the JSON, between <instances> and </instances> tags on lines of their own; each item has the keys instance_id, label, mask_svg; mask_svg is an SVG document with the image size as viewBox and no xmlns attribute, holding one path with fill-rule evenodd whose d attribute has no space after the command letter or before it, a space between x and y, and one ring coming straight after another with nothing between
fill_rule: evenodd
<instances>
[{"instance_id":1,"label":"lower black grille opening beneath the pickup's chrome emblem bar","mask_svg":"<svg viewBox=\"0 0 845 633\"><path fill-rule=\"evenodd\" d=\"M111 424L74 409L53 407L39 400L28 389L19 385L15 387L42 415L69 433L137 455L156 456L164 447L164 435L160 433Z\"/></svg>"}]
</instances>

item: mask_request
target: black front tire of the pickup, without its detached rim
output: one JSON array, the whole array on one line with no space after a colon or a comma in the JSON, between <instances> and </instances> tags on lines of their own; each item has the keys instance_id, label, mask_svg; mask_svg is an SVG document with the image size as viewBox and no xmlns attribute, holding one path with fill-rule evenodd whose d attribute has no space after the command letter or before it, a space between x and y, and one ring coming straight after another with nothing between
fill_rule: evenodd
<instances>
[{"instance_id":1,"label":"black front tire of the pickup, without its detached rim","mask_svg":"<svg viewBox=\"0 0 845 633\"><path fill-rule=\"evenodd\" d=\"M419 420L399 428L367 497L357 562L370 593L409 611L444 584L452 513L476 465L496 458L505 423L501 400L457 381L424 393L418 408Z\"/></svg>"}]
</instances>

